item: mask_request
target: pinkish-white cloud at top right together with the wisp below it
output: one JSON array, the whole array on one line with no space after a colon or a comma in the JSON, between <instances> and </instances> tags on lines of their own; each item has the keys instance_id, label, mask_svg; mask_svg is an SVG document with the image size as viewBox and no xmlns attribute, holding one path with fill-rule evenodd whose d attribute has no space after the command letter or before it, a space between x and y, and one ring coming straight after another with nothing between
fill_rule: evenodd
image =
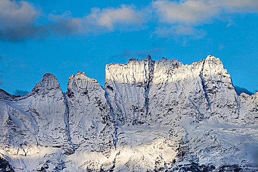
<instances>
[{"instance_id":1,"label":"pinkish-white cloud at top right together with the wisp below it","mask_svg":"<svg viewBox=\"0 0 258 172\"><path fill-rule=\"evenodd\" d=\"M206 34L196 28L200 25L230 21L232 13L258 12L257 0L156 0L151 5L158 21L167 26L154 32L161 37L183 35L199 39Z\"/></svg>"}]
</instances>

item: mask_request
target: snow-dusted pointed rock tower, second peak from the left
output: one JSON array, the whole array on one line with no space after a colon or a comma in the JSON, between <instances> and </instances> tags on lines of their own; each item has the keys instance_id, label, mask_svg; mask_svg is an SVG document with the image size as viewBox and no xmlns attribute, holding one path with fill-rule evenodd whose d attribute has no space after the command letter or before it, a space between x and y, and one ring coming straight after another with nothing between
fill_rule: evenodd
<instances>
[{"instance_id":1,"label":"snow-dusted pointed rock tower, second peak from the left","mask_svg":"<svg viewBox=\"0 0 258 172\"><path fill-rule=\"evenodd\" d=\"M78 72L67 89L70 137L80 151L108 152L114 148L114 124L105 90L94 79Z\"/></svg>"}]
</instances>

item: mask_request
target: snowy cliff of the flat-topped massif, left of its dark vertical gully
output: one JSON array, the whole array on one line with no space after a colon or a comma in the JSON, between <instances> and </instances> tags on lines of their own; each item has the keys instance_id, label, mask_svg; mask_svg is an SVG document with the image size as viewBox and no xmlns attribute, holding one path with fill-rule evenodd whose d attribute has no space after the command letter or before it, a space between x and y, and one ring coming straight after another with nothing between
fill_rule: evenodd
<instances>
[{"instance_id":1,"label":"snowy cliff of the flat-topped massif, left of its dark vertical gully","mask_svg":"<svg viewBox=\"0 0 258 172\"><path fill-rule=\"evenodd\" d=\"M106 66L105 89L118 125L145 123L154 64L155 61L147 57Z\"/></svg>"}]
</instances>

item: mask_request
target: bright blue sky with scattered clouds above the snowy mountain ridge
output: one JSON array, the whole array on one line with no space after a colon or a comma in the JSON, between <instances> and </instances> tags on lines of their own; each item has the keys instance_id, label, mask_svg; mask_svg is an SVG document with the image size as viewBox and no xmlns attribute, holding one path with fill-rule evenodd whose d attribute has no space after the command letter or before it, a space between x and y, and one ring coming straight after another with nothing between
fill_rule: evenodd
<instances>
[{"instance_id":1,"label":"bright blue sky with scattered clouds above the snowy mountain ridge","mask_svg":"<svg viewBox=\"0 0 258 172\"><path fill-rule=\"evenodd\" d=\"M257 0L0 0L0 88L31 91L77 71L104 86L105 65L219 57L233 84L258 90Z\"/></svg>"}]
</instances>

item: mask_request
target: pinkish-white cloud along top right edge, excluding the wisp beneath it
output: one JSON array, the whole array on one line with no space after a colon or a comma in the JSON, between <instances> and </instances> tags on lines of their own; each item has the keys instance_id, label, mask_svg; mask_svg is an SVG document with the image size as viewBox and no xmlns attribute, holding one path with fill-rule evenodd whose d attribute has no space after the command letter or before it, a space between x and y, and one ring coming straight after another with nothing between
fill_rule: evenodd
<instances>
[{"instance_id":1,"label":"pinkish-white cloud along top right edge, excluding the wisp beneath it","mask_svg":"<svg viewBox=\"0 0 258 172\"><path fill-rule=\"evenodd\" d=\"M258 12L258 0L157 0L152 7L160 22L199 25L225 13Z\"/></svg>"}]
</instances>

